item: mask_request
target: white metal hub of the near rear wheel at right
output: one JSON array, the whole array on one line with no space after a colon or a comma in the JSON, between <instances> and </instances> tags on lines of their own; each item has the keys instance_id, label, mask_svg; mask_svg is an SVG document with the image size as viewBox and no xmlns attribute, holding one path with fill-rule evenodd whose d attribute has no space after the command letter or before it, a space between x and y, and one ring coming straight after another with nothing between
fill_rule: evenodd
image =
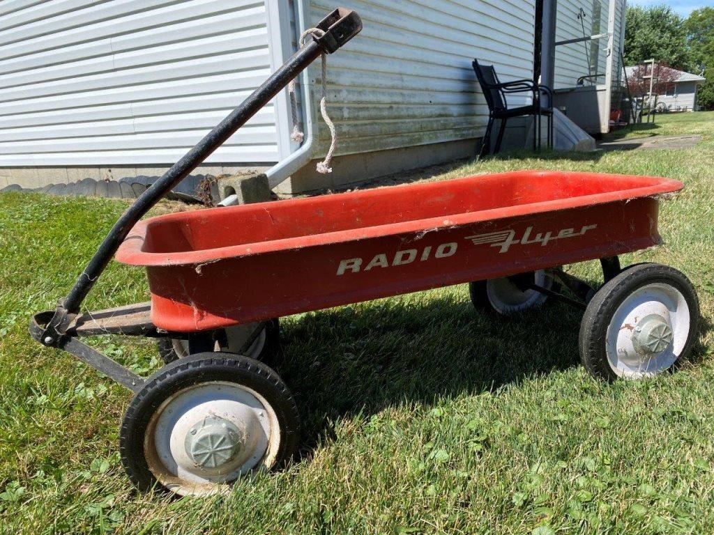
<instances>
[{"instance_id":1,"label":"white metal hub of the near rear wheel at right","mask_svg":"<svg viewBox=\"0 0 714 535\"><path fill-rule=\"evenodd\" d=\"M676 362L689 330L689 307L679 290L664 283L638 288L625 298L608 325L608 363L626 379L652 377Z\"/></svg>"}]
</instances>

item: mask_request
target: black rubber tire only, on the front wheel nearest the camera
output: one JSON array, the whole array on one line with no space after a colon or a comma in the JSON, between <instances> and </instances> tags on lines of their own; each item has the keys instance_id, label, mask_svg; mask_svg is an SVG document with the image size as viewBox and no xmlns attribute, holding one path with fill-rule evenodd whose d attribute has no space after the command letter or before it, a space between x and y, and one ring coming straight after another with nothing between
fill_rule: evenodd
<instances>
[{"instance_id":1,"label":"black rubber tire only, on the front wheel nearest the camera","mask_svg":"<svg viewBox=\"0 0 714 535\"><path fill-rule=\"evenodd\" d=\"M262 362L242 355L198 353L172 362L151 375L126 409L119 433L121 464L140 491L171 492L156 480L144 457L144 435L154 412L181 389L211 381L243 384L261 394L271 405L281 432L276 463L271 468L282 467L297 453L300 415L293 394L278 374Z\"/></svg>"}]
</instances>

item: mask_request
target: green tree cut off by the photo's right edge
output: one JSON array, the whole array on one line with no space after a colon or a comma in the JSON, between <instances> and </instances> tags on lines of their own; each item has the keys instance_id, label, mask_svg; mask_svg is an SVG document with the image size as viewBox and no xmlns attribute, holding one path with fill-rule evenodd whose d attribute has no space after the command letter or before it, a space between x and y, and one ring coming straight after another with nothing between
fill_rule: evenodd
<instances>
[{"instance_id":1,"label":"green tree cut off by the photo's right edge","mask_svg":"<svg viewBox=\"0 0 714 535\"><path fill-rule=\"evenodd\" d=\"M703 72L707 81L699 88L699 105L714 109L714 8L692 11L684 23L692 71Z\"/></svg>"}]
</instances>

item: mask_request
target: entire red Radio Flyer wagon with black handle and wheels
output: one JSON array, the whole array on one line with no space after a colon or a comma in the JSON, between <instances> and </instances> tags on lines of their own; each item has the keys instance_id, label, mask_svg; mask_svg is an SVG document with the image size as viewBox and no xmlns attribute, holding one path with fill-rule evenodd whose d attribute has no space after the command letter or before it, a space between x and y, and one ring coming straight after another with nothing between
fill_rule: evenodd
<instances>
[{"instance_id":1,"label":"entire red Radio Flyer wagon with black handle and wheels","mask_svg":"<svg viewBox=\"0 0 714 535\"><path fill-rule=\"evenodd\" d=\"M265 347L281 316L469 282L474 305L502 314L547 297L585 309L580 354L603 379L670 370L695 342L698 301L688 279L672 267L620 269L618 261L660 243L658 196L680 190L675 180L525 171L139 222L361 23L353 11L338 9L319 28L324 34L122 215L57 309L31 321L36 340L134 392L121 426L121 459L141 489L209 494L291 458L300 429L296 404L256 346ZM151 302L80 313L115 253L119 262L146 268ZM597 290L560 269L593 259L600 259L605 279ZM180 342L181 351L144 379L80 341L112 334L155 337L174 348Z\"/></svg>"}]
</instances>

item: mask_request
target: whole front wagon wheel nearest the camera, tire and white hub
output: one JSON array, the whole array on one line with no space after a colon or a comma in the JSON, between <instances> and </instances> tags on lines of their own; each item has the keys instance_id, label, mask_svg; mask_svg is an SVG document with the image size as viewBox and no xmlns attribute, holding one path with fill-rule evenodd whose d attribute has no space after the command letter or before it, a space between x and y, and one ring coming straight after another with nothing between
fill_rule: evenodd
<instances>
[{"instance_id":1,"label":"whole front wagon wheel nearest the camera, tire and white hub","mask_svg":"<svg viewBox=\"0 0 714 535\"><path fill-rule=\"evenodd\" d=\"M291 459L299 429L292 394L271 368L200 353L161 368L131 400L121 462L142 491L216 494Z\"/></svg>"}]
</instances>

